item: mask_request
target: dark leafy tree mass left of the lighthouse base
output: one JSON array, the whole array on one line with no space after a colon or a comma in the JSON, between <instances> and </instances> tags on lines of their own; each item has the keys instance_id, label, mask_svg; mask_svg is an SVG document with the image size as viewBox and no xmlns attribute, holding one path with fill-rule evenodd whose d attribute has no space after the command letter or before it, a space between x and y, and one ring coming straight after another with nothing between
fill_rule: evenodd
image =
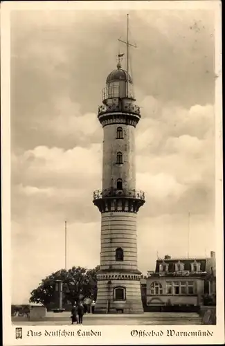
<instances>
[{"instance_id":1,"label":"dark leafy tree mass left of the lighthouse base","mask_svg":"<svg viewBox=\"0 0 225 346\"><path fill-rule=\"evenodd\" d=\"M55 302L55 280L63 282L63 304L69 300L71 304L78 302L81 298L96 300L97 277L99 266L93 269L80 266L69 269L61 269L42 279L37 289L30 293L30 302L41 303L44 306Z\"/></svg>"}]
</instances>

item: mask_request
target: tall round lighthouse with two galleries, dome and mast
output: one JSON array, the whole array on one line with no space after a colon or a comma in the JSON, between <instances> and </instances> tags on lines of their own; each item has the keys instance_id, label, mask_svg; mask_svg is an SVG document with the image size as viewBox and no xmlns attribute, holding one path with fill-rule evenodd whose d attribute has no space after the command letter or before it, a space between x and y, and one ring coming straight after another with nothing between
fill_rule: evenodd
<instances>
[{"instance_id":1,"label":"tall round lighthouse with two galleries, dome and mast","mask_svg":"<svg viewBox=\"0 0 225 346\"><path fill-rule=\"evenodd\" d=\"M143 313L138 271L138 210L145 194L136 190L135 128L141 119L129 73L129 17L126 69L118 55L116 69L102 90L98 120L103 128L102 189L93 192L101 213L100 271L96 313ZM123 42L123 41L122 41Z\"/></svg>"}]
</instances>

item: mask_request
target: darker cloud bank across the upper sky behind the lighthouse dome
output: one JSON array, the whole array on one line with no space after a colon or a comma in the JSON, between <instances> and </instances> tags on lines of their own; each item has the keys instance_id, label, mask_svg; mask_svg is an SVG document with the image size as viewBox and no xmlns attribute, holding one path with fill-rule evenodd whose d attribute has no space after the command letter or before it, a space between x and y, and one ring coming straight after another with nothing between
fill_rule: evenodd
<instances>
[{"instance_id":1,"label":"darker cloud bank across the upper sky behind the lighthouse dome","mask_svg":"<svg viewBox=\"0 0 225 346\"><path fill-rule=\"evenodd\" d=\"M110 11L102 13L62 11L58 21L57 11L35 11L29 15L23 11L13 12L11 117L14 148L60 146L48 122L54 125L56 120L58 133L60 126L63 129L63 123L68 122L72 132L71 119L77 112L82 116L90 115L86 129L96 128L93 112L101 104L101 88L105 87L107 74L116 66L118 37L125 35L125 12L115 11L114 16ZM138 49L132 50L132 74L138 103L143 106L143 118L159 118L161 107L166 117L168 104L174 104L178 113L195 104L213 104L214 24L211 12L139 10L132 11L130 16L131 39L135 36L135 41L138 40ZM195 23L200 30L195 30ZM179 127L179 122L176 126ZM204 131L204 122L201 127ZM198 126L192 127L193 136L197 136L196 129L200 131ZM176 131L179 130L174 128L174 133ZM186 134L185 129L183 131ZM100 141L99 134L100 129L96 129L91 140ZM78 145L80 136L77 141L72 134L62 139L63 146L69 149Z\"/></svg>"}]
</instances>

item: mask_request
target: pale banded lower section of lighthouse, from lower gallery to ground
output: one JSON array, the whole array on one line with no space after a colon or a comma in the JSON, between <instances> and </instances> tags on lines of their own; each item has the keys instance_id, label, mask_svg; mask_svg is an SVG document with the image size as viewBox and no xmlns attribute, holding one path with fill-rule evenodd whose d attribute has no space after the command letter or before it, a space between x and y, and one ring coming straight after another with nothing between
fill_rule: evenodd
<instances>
[{"instance_id":1,"label":"pale banded lower section of lighthouse, from lower gallery to ground","mask_svg":"<svg viewBox=\"0 0 225 346\"><path fill-rule=\"evenodd\" d=\"M137 269L136 253L136 214L128 211L105 212L102 214L101 230L96 312L142 313L141 273ZM119 257L118 253L120 260L115 259L118 246L123 248L123 257Z\"/></svg>"}]
</instances>

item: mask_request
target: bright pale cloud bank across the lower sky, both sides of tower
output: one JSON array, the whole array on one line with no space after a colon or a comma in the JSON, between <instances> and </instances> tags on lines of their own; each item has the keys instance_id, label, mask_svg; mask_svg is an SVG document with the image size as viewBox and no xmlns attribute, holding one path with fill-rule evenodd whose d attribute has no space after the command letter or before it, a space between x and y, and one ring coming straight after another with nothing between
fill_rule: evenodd
<instances>
[{"instance_id":1,"label":"bright pale cloud bank across the lower sky, both sides of tower","mask_svg":"<svg viewBox=\"0 0 225 346\"><path fill-rule=\"evenodd\" d=\"M146 99L152 102L152 98ZM63 252L60 244L63 242L65 219L69 221L71 232L74 229L75 234L84 235L70 240L70 253L76 254L71 255L71 265L78 261L78 257L80 265L89 267L99 261L100 214L93 206L92 192L101 186L102 145L87 145L96 131L96 117L93 114L82 116L78 104L73 104L68 98L63 102L60 99L55 109L58 109L55 123L46 122L46 132L54 134L56 143L60 144L64 143L60 138L72 136L74 128L74 134L83 146L64 149L42 145L12 154L12 235L16 268L13 280L18 280L19 275L30 275L28 286L20 285L26 295L13 293L18 302L28 299L29 291L44 275L62 266L56 253ZM63 113L71 112L61 109L76 109L74 118L65 116L66 122L63 122ZM213 106L180 110L168 107L165 111L162 107L158 118L144 117L136 129L136 186L145 190L146 196L146 203L138 213L138 246L141 248L138 258L142 271L154 268L156 244L161 253L168 252L165 244L171 243L171 237L175 237L177 245L170 245L170 253L179 254L177 249L183 241L182 229L186 228L185 221L182 224L179 220L182 217L185 220L188 211L195 219L202 215L201 224L198 222L192 226L196 236L201 237L203 227L207 230L208 236L201 242L201 251L213 246L208 243L213 232L210 223L214 212ZM199 132L193 132L192 127L199 121L199 128L203 118L204 131L201 128ZM93 122L86 131L89 120ZM176 132L172 126L174 121L179 123ZM165 215L168 215L167 221ZM48 262L48 268L39 265L36 273L29 274L30 267L17 264L18 256L20 262L26 258L22 255L25 244L33 248L30 263L36 266L42 260ZM75 250L74 246L78 249ZM49 248L54 248L54 251L48 254ZM186 251L184 248L185 243L181 246L181 255ZM146 263L150 251L152 255ZM199 253L199 248L195 249L192 244L192 251ZM92 260L83 255L87 252L92 254ZM37 258L35 253L41 255Z\"/></svg>"}]
</instances>

